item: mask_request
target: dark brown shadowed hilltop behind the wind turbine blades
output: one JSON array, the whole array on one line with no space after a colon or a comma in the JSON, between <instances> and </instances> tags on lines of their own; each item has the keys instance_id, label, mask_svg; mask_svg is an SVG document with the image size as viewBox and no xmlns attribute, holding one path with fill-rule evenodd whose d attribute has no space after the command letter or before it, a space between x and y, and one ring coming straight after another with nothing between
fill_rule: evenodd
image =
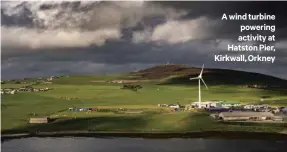
<instances>
[{"instance_id":1,"label":"dark brown shadowed hilltop behind the wind turbine blades","mask_svg":"<svg viewBox=\"0 0 287 152\"><path fill-rule=\"evenodd\" d=\"M159 65L135 73L134 79L163 79L168 78L164 84L194 84L189 78L196 77L201 68L185 65ZM268 85L272 87L286 87L287 80L259 73L235 71L227 69L204 69L203 78L209 85Z\"/></svg>"}]
</instances>

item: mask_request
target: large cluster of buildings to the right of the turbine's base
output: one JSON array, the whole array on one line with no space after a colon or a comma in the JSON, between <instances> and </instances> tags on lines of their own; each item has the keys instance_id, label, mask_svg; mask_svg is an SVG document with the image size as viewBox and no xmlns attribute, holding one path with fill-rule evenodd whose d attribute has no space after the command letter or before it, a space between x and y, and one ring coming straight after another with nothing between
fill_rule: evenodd
<instances>
[{"instance_id":1,"label":"large cluster of buildings to the right of the turbine's base","mask_svg":"<svg viewBox=\"0 0 287 152\"><path fill-rule=\"evenodd\" d=\"M199 102L192 103L192 108L199 107ZM203 107L216 120L221 121L251 121L251 122L283 122L279 115L287 114L286 107L272 108L267 104L247 104L230 101L206 101L201 102Z\"/></svg>"}]
</instances>

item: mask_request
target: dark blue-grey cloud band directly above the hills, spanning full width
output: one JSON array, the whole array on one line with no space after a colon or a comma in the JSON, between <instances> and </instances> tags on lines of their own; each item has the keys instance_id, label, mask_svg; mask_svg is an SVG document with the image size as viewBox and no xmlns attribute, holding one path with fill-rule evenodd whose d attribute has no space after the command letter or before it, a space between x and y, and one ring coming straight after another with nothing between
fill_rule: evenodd
<instances>
[{"instance_id":1,"label":"dark blue-grey cloud band directly above the hills, spanning full width","mask_svg":"<svg viewBox=\"0 0 287 152\"><path fill-rule=\"evenodd\" d=\"M80 74L80 73L123 73L152 65L189 64L207 68L231 68L244 71L270 74L286 78L287 57L284 51L276 51L277 61L274 64L250 64L214 62L212 45L202 42L150 45L129 42L113 43L101 47L90 47L88 50L42 51L30 52L27 55L2 58L2 77L18 78L28 76ZM211 53L212 52L212 53Z\"/></svg>"}]
</instances>

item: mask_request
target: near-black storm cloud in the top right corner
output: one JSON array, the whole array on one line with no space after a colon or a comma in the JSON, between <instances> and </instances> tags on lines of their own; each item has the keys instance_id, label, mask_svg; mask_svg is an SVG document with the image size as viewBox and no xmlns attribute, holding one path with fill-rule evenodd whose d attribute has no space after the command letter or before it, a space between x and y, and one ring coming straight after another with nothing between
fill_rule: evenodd
<instances>
[{"instance_id":1,"label":"near-black storm cloud in the top right corner","mask_svg":"<svg viewBox=\"0 0 287 152\"><path fill-rule=\"evenodd\" d=\"M178 9L189 9L191 10L189 15L187 15L186 19L189 18L197 18L201 16L210 17L213 19L221 19L222 14L259 14L259 13L267 13L276 15L275 21L231 21L225 22L224 26L216 29L218 33L222 35L225 34L238 34L238 25L252 23L252 24L275 24L276 25L276 37L279 39L287 36L287 2L212 2L212 1L204 1L204 2L157 2L161 3L165 6L173 6Z\"/></svg>"}]
</instances>

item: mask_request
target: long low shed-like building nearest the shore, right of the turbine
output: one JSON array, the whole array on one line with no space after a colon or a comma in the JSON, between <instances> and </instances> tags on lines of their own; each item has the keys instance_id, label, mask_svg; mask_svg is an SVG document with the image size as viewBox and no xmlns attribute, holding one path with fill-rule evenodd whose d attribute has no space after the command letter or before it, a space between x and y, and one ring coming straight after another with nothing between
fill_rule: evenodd
<instances>
[{"instance_id":1,"label":"long low shed-like building nearest the shore, right of the turbine","mask_svg":"<svg viewBox=\"0 0 287 152\"><path fill-rule=\"evenodd\" d=\"M223 121L265 121L265 120L279 120L271 112L221 112L218 115L219 119Z\"/></svg>"}]
</instances>

